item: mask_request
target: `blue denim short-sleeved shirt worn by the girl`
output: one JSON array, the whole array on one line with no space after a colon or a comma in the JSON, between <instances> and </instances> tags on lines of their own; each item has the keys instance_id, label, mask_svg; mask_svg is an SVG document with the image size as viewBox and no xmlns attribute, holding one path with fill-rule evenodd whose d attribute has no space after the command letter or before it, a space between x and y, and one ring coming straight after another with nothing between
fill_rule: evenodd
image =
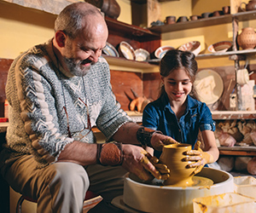
<instances>
[{"instance_id":1,"label":"blue denim short-sleeved shirt worn by the girl","mask_svg":"<svg viewBox=\"0 0 256 213\"><path fill-rule=\"evenodd\" d=\"M192 147L197 141L199 130L215 131L212 113L205 103L188 95L185 113L177 120L166 93L145 107L143 126L160 130L164 135L169 135L178 142L191 144ZM160 157L160 152L154 154Z\"/></svg>"}]
</instances>

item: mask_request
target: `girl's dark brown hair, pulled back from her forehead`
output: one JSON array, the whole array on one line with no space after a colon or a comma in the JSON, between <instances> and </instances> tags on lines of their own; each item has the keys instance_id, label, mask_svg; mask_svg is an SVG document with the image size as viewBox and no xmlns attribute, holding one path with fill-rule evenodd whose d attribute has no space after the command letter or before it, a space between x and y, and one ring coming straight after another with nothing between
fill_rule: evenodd
<instances>
[{"instance_id":1,"label":"girl's dark brown hair, pulled back from her forehead","mask_svg":"<svg viewBox=\"0 0 256 213\"><path fill-rule=\"evenodd\" d=\"M183 68L187 72L192 83L195 81L197 72L197 62L195 55L189 51L171 49L166 52L166 55L160 60L160 75L167 77L171 72L178 68ZM165 86L161 85L160 95L165 93ZM192 87L191 96L197 98L195 88Z\"/></svg>"}]
</instances>

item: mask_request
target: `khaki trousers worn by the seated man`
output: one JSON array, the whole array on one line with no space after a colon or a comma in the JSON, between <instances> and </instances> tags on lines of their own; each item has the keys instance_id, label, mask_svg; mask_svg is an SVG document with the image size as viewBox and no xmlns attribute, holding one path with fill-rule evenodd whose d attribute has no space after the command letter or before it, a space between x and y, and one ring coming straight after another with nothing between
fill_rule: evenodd
<instances>
[{"instance_id":1,"label":"khaki trousers worn by the seated man","mask_svg":"<svg viewBox=\"0 0 256 213\"><path fill-rule=\"evenodd\" d=\"M43 169L37 166L32 155L25 155L5 164L2 175L16 192L38 200L38 213L80 213L87 190L103 198L91 213L122 212L110 204L123 194L127 172L121 166L83 167L67 162L49 164Z\"/></svg>"}]
</instances>

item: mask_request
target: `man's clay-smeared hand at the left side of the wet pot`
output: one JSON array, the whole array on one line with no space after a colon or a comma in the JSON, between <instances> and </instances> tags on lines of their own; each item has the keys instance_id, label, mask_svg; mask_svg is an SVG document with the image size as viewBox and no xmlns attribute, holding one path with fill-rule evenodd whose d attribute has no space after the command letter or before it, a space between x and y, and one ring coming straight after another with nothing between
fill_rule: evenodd
<instances>
[{"instance_id":1,"label":"man's clay-smeared hand at the left side of the wet pot","mask_svg":"<svg viewBox=\"0 0 256 213\"><path fill-rule=\"evenodd\" d=\"M122 166L125 170L135 174L143 181L154 177L163 179L168 177L170 170L164 164L158 164L158 159L152 157L142 147L123 144L124 160Z\"/></svg>"}]
</instances>

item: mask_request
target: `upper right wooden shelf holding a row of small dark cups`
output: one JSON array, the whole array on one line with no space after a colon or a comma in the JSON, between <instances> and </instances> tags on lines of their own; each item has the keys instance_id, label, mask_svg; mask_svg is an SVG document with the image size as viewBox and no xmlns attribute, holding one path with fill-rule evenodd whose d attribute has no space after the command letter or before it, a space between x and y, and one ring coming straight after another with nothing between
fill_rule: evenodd
<instances>
[{"instance_id":1,"label":"upper right wooden shelf holding a row of small dark cups","mask_svg":"<svg viewBox=\"0 0 256 213\"><path fill-rule=\"evenodd\" d=\"M200 19L200 20L189 20L185 22L179 22L172 25L163 25L163 26L152 26L149 27L148 30L152 32L174 32L174 31L183 31L197 27L204 27L204 26L214 26L214 25L222 25L231 23L233 18L237 20L255 20L256 19L256 11L247 11L247 12L240 12L237 14L224 14L220 16Z\"/></svg>"}]
</instances>

